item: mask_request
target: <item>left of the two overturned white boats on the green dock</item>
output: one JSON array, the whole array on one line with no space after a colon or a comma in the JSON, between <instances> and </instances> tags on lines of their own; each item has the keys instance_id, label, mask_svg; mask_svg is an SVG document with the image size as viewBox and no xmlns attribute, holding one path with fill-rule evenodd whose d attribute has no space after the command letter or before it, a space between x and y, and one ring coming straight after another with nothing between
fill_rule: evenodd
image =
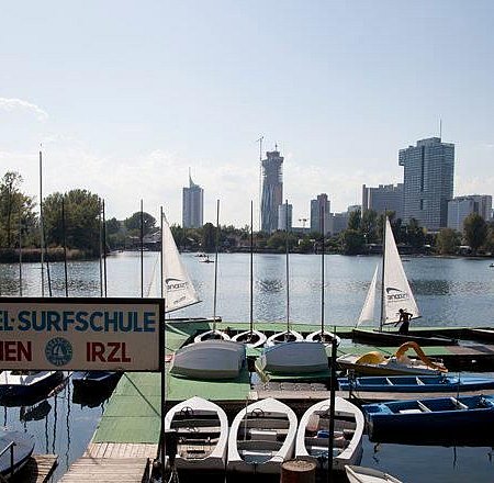
<instances>
[{"instance_id":1,"label":"left of the two overturned white boats on the green dock","mask_svg":"<svg viewBox=\"0 0 494 483\"><path fill-rule=\"evenodd\" d=\"M246 364L243 344L232 340L205 340L177 350L170 374L200 380L236 379Z\"/></svg>"}]
</instances>

